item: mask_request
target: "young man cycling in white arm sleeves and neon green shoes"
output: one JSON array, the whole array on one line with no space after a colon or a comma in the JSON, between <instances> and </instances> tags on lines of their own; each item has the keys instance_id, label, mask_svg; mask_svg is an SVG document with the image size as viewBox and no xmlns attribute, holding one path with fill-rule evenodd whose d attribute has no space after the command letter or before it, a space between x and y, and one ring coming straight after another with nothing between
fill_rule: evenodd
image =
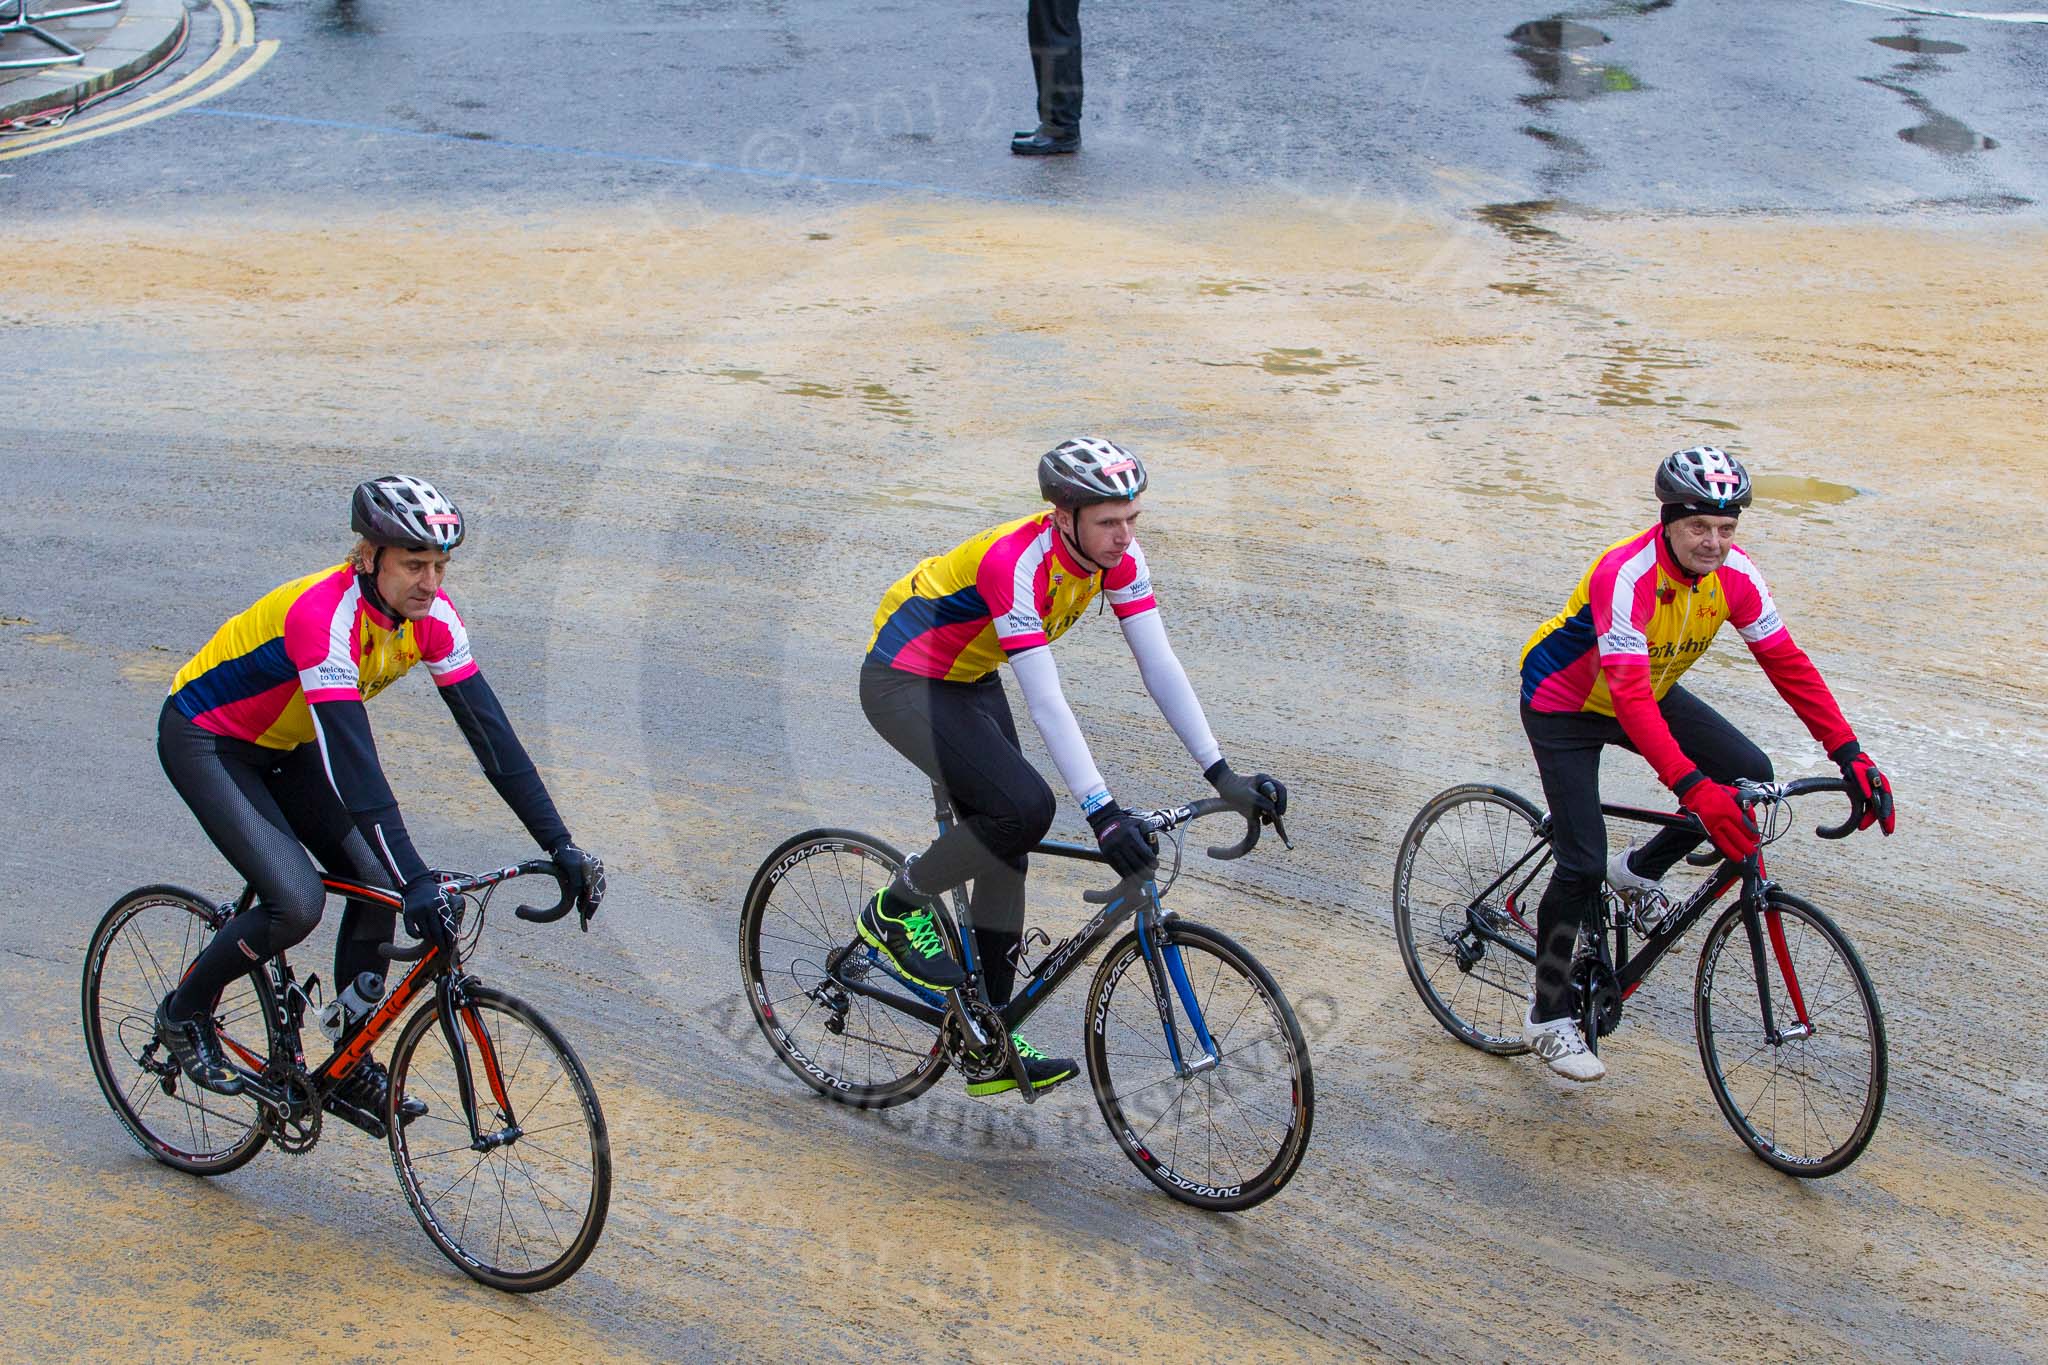
<instances>
[{"instance_id":1,"label":"young man cycling in white arm sleeves and neon green shoes","mask_svg":"<svg viewBox=\"0 0 2048 1365\"><path fill-rule=\"evenodd\" d=\"M860 708L897 753L932 778L958 821L913 853L860 913L860 937L909 980L952 990L967 974L946 952L932 907L973 882L969 917L987 1003L1001 1009L1016 984L1024 937L1026 853L1053 827L1053 788L1018 745L997 667L1016 671L1032 724L1067 782L1096 843L1118 876L1157 866L1151 839L1110 796L1059 688L1053 641L1106 593L1139 675L1217 794L1243 812L1286 814L1286 788L1231 772L1188 673L1165 639L1135 526L1145 465L1122 446L1079 436L1038 460L1049 512L1004 522L926 559L883 593L860 665ZM1075 1074L1012 1036L1032 1089ZM969 1095L1014 1091L1008 1076Z\"/></svg>"}]
</instances>

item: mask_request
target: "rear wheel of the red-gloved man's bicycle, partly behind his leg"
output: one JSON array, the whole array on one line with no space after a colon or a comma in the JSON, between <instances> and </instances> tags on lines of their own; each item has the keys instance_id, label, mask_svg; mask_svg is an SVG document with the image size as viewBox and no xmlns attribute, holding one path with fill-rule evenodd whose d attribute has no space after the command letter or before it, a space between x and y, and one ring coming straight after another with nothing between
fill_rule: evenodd
<instances>
[{"instance_id":1,"label":"rear wheel of the red-gloved man's bicycle, partly behind his leg","mask_svg":"<svg viewBox=\"0 0 2048 1365\"><path fill-rule=\"evenodd\" d=\"M1538 860L1493 884L1542 841L1540 823L1542 810L1507 788L1454 786L1430 798L1395 857L1395 939L1415 995L1454 1038L1495 1056L1528 1052L1536 905L1524 882Z\"/></svg>"}]
</instances>

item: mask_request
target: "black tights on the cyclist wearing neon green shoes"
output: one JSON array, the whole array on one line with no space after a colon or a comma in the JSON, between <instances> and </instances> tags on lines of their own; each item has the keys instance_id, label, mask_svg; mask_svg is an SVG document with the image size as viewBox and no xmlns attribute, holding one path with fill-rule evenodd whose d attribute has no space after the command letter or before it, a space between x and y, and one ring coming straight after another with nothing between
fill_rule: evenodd
<instances>
[{"instance_id":1,"label":"black tights on the cyclist wearing neon green shoes","mask_svg":"<svg viewBox=\"0 0 2048 1365\"><path fill-rule=\"evenodd\" d=\"M1053 827L1053 788L1024 757L1001 679L956 684L879 663L860 669L868 724L944 788L958 821L911 868L918 890L973 880L967 911L991 1005L1016 984L1010 954L1024 933L1024 855Z\"/></svg>"}]
</instances>

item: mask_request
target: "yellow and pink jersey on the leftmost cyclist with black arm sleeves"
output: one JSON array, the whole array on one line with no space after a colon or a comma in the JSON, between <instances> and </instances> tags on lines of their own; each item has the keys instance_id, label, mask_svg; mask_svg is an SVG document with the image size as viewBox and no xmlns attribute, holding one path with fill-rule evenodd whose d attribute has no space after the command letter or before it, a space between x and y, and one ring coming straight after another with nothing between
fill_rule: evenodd
<instances>
[{"instance_id":1,"label":"yellow and pink jersey on the leftmost cyclist with black arm sleeves","mask_svg":"<svg viewBox=\"0 0 2048 1365\"><path fill-rule=\"evenodd\" d=\"M231 616L178 669L170 700L215 735L297 749L313 743L307 702L367 702L416 663L442 688L477 671L446 593L424 620L393 620L365 598L352 567L336 565Z\"/></svg>"}]
</instances>

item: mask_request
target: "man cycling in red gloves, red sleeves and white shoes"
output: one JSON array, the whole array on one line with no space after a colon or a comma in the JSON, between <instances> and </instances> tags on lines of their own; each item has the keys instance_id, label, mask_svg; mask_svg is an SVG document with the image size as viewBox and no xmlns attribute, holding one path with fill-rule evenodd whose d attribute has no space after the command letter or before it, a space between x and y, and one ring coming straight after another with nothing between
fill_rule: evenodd
<instances>
[{"instance_id":1,"label":"man cycling in red gloves, red sleeves and white shoes","mask_svg":"<svg viewBox=\"0 0 2048 1365\"><path fill-rule=\"evenodd\" d=\"M1892 833L1892 788L1862 751L1821 671L1794 641L1763 573L1735 544L1751 501L1749 471L1716 446L1677 450L1657 467L1657 526L1616 540L1522 647L1522 729L1550 806L1556 868L1536 907L1536 995L1524 1040L1559 1074L1599 1081L1606 1064L1571 1019L1571 952L1599 905L1599 882L1657 892L1698 847L1688 827L1608 857L1599 753L1634 749L1706 827L1726 857L1757 849L1757 829L1726 786L1769 782L1769 757L1677 679L1722 622L1735 626L1778 694L1841 767L1860 829Z\"/></svg>"}]
</instances>

